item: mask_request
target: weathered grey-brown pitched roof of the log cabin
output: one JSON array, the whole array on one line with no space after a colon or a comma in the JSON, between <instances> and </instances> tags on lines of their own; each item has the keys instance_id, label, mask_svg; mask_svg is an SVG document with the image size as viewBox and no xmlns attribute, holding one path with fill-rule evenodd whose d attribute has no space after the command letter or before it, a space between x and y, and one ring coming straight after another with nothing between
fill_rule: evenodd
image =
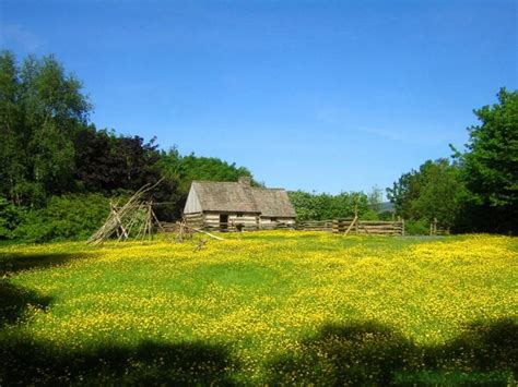
<instances>
[{"instance_id":1,"label":"weathered grey-brown pitched roof of the log cabin","mask_svg":"<svg viewBox=\"0 0 518 387\"><path fill-rule=\"evenodd\" d=\"M295 217L290 197L283 189L255 188L246 182L193 181L192 191L202 210Z\"/></svg>"}]
</instances>

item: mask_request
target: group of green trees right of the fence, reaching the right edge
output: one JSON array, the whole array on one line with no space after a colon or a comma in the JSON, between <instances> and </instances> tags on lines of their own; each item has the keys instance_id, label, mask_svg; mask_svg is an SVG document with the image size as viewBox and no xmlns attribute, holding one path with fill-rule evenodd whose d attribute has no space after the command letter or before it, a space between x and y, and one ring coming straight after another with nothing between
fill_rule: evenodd
<instances>
[{"instance_id":1,"label":"group of green trees right of the fence, reaching the right edge","mask_svg":"<svg viewBox=\"0 0 518 387\"><path fill-rule=\"evenodd\" d=\"M427 160L387 189L416 232L436 219L454 232L517 233L518 92L502 88L497 99L473 111L480 123L463 152L450 145L449 159Z\"/></svg>"}]
</instances>

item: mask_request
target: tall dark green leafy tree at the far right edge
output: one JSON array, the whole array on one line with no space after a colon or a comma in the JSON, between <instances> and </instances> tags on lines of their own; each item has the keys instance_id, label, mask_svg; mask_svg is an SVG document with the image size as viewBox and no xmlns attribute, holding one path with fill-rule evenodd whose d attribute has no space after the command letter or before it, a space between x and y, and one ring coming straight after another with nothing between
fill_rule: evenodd
<instances>
[{"instance_id":1,"label":"tall dark green leafy tree at the far right edge","mask_svg":"<svg viewBox=\"0 0 518 387\"><path fill-rule=\"evenodd\" d=\"M481 124L469 128L463 180L473 228L517 232L518 219L518 92L502 88L498 102L474 110ZM455 148L454 148L455 149Z\"/></svg>"}]
</instances>

